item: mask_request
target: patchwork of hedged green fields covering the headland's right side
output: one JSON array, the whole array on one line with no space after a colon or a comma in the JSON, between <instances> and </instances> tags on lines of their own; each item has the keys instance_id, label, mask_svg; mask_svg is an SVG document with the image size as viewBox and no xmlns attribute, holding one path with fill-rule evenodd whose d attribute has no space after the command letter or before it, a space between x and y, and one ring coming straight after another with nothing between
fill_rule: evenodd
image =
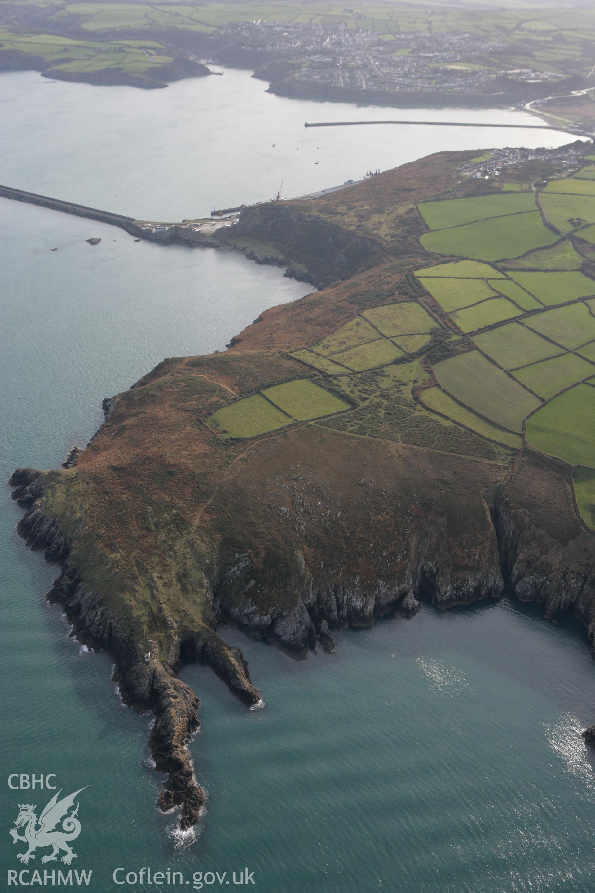
<instances>
[{"instance_id":1,"label":"patchwork of hedged green fields covering the headland's right side","mask_svg":"<svg viewBox=\"0 0 595 893\"><path fill-rule=\"evenodd\" d=\"M222 438L317 424L496 463L531 447L567 463L593 526L594 178L590 163L541 193L419 203L427 263L408 271L409 294L291 351L303 378L208 424Z\"/></svg>"}]
</instances>

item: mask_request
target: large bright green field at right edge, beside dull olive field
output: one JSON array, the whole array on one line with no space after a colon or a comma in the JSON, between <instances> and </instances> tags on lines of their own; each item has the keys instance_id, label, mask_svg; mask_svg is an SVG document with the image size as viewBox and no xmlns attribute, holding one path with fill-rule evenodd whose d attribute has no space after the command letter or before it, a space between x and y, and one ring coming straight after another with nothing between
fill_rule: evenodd
<instances>
[{"instance_id":1,"label":"large bright green field at right edge, beside dull olive field","mask_svg":"<svg viewBox=\"0 0 595 893\"><path fill-rule=\"evenodd\" d=\"M527 419L526 438L533 447L573 465L595 466L595 388L576 385L555 396Z\"/></svg>"}]
</instances>

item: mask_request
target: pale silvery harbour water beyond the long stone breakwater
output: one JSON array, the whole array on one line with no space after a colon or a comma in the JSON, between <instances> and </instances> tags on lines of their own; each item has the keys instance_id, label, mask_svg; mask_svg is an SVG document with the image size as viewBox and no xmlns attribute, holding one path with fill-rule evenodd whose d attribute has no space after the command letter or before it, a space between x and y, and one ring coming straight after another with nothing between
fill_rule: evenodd
<instances>
[{"instance_id":1,"label":"pale silvery harbour water beyond the long stone breakwater","mask_svg":"<svg viewBox=\"0 0 595 893\"><path fill-rule=\"evenodd\" d=\"M247 71L162 90L2 75L0 182L144 220L302 196L439 149L563 146L552 130L445 127L304 128L305 121L531 123L506 109L379 109L266 93ZM318 162L318 164L317 164Z\"/></svg>"}]
</instances>

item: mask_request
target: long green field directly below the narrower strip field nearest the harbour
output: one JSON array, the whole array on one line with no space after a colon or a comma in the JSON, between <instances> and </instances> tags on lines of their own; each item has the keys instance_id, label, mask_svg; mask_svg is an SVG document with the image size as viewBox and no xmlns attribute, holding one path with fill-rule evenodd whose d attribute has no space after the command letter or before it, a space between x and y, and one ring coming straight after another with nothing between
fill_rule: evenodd
<instances>
[{"instance_id":1,"label":"long green field directly below the narrower strip field nearest the harbour","mask_svg":"<svg viewBox=\"0 0 595 893\"><path fill-rule=\"evenodd\" d=\"M551 245L558 241L558 237L543 226L539 211L534 211L509 217L492 217L451 230L426 232L419 241L426 251L436 255L498 261L524 255L532 248Z\"/></svg>"}]
</instances>

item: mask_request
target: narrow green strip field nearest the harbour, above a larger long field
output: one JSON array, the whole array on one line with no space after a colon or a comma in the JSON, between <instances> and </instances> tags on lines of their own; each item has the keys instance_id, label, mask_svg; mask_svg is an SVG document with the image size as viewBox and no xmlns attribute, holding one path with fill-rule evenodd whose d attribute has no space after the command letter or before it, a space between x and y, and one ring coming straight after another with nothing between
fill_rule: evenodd
<instances>
[{"instance_id":1,"label":"narrow green strip field nearest the harbour, above a larger long field","mask_svg":"<svg viewBox=\"0 0 595 893\"><path fill-rule=\"evenodd\" d=\"M475 196L473 198L445 198L441 202L419 202L419 213L430 230L461 226L464 223L535 210L533 192Z\"/></svg>"}]
</instances>

